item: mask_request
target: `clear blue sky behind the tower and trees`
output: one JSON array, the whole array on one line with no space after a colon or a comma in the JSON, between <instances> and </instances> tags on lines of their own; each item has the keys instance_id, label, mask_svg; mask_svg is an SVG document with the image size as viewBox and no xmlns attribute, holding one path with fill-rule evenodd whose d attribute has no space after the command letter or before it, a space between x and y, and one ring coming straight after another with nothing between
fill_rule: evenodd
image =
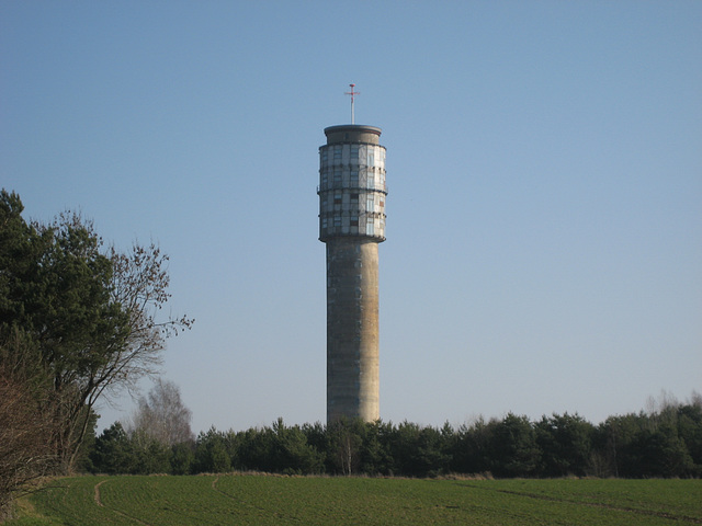
<instances>
[{"instance_id":1,"label":"clear blue sky behind the tower and trees","mask_svg":"<svg viewBox=\"0 0 702 526\"><path fill-rule=\"evenodd\" d=\"M351 82L387 148L383 420L702 391L700 1L3 1L0 186L170 254L196 432L324 422Z\"/></svg>"}]
</instances>

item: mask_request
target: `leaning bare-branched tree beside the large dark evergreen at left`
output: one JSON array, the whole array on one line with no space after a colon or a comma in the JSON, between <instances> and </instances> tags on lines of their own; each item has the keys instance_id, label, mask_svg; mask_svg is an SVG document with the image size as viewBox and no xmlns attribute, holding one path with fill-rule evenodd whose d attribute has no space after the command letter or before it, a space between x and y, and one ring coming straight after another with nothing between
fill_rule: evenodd
<instances>
[{"instance_id":1,"label":"leaning bare-branched tree beside the large dark evergreen at left","mask_svg":"<svg viewBox=\"0 0 702 526\"><path fill-rule=\"evenodd\" d=\"M87 229L98 239L92 224L79 216L70 217L69 224ZM135 392L140 378L158 373L166 340L190 329L194 321L184 316L177 319L159 316L171 295L168 293L168 255L156 244L134 244L127 253L112 248L109 260L112 270L109 306L118 310L112 318L113 333L104 341L90 342L95 359L88 366L63 371L66 378L61 381L65 387L57 418L68 425L56 442L64 471L70 471L76 462L95 403L124 389Z\"/></svg>"}]
</instances>

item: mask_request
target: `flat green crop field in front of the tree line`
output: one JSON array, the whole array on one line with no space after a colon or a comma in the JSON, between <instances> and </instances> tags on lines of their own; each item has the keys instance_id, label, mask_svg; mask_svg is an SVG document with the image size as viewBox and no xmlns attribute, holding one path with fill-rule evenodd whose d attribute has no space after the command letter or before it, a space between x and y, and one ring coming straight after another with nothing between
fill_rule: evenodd
<instances>
[{"instance_id":1,"label":"flat green crop field in front of the tree line","mask_svg":"<svg viewBox=\"0 0 702 526\"><path fill-rule=\"evenodd\" d=\"M702 524L702 480L75 477L12 526Z\"/></svg>"}]
</instances>

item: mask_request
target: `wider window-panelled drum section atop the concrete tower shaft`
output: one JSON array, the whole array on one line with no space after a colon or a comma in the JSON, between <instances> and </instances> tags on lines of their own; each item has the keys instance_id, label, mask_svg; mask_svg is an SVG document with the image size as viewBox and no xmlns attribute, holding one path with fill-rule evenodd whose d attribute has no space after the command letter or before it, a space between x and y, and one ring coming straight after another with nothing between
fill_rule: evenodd
<instances>
[{"instance_id":1,"label":"wider window-panelled drum section atop the concrete tower shaft","mask_svg":"<svg viewBox=\"0 0 702 526\"><path fill-rule=\"evenodd\" d=\"M338 141L321 146L317 193L321 241L346 236L385 240L385 147Z\"/></svg>"}]
</instances>

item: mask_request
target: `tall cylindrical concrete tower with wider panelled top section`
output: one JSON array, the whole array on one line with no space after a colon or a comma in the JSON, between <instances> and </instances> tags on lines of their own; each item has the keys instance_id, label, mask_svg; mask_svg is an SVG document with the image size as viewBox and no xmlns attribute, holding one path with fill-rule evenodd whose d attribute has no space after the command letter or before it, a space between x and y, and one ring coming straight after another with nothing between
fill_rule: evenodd
<instances>
[{"instance_id":1,"label":"tall cylindrical concrete tower with wider panelled top section","mask_svg":"<svg viewBox=\"0 0 702 526\"><path fill-rule=\"evenodd\" d=\"M380 419L377 244L385 241L381 128L325 129L319 240L327 244L327 422Z\"/></svg>"}]
</instances>

